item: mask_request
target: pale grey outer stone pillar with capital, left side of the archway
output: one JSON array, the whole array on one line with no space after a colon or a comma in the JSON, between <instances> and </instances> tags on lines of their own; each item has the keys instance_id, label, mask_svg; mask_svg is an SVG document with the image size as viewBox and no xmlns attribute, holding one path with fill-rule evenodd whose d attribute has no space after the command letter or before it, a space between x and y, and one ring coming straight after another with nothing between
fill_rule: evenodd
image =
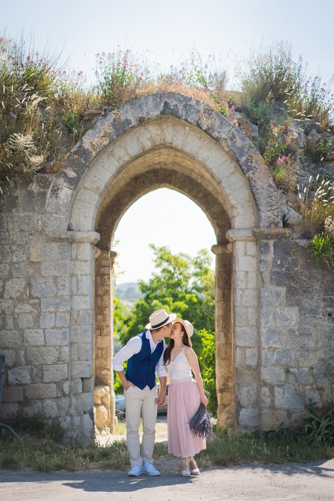
<instances>
[{"instance_id":1,"label":"pale grey outer stone pillar with capital, left side of the archway","mask_svg":"<svg viewBox=\"0 0 334 501\"><path fill-rule=\"evenodd\" d=\"M93 249L100 239L95 231L64 231L48 234L48 240L69 242L70 335L63 351L69 355L68 393L70 408L65 425L82 443L94 440L94 259ZM59 341L55 340L55 343Z\"/></svg>"}]
</instances>

